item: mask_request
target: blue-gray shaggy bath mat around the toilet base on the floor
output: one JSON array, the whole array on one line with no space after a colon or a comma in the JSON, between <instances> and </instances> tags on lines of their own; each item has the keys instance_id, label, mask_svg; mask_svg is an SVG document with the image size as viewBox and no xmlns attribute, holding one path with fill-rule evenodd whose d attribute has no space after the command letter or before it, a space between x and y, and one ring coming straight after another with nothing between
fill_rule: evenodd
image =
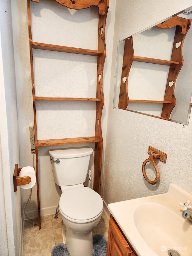
<instances>
[{"instance_id":1,"label":"blue-gray shaggy bath mat around the toilet base on the floor","mask_svg":"<svg viewBox=\"0 0 192 256\"><path fill-rule=\"evenodd\" d=\"M103 235L93 236L93 253L91 256L106 256L107 239ZM63 243L53 247L51 256L70 256L67 246Z\"/></svg>"}]
</instances>

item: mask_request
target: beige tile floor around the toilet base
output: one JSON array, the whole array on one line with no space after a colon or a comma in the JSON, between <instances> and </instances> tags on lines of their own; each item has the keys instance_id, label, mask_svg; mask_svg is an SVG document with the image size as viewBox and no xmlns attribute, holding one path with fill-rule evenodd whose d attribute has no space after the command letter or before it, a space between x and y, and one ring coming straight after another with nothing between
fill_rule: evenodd
<instances>
[{"instance_id":1,"label":"beige tile floor around the toilet base","mask_svg":"<svg viewBox=\"0 0 192 256\"><path fill-rule=\"evenodd\" d=\"M29 221L24 222L23 256L50 256L52 248L62 243L62 219L60 212L55 215L41 217L41 230L38 226L32 227ZM32 220L38 223L37 220ZM101 234L107 238L109 218L103 211L98 225L93 229L93 235Z\"/></svg>"}]
</instances>

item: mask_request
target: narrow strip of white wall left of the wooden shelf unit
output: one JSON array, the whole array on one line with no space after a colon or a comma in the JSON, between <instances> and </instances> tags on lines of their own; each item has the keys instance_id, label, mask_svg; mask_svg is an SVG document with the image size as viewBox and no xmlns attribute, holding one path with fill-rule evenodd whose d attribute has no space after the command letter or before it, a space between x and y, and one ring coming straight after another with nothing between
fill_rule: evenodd
<instances>
[{"instance_id":1,"label":"narrow strip of white wall left of the wooden shelf unit","mask_svg":"<svg viewBox=\"0 0 192 256\"><path fill-rule=\"evenodd\" d=\"M29 55L27 1L11 1L13 43L16 70L16 97L19 124L19 168L33 166L29 126L34 125ZM37 209L37 192L34 187L29 205ZM24 193L22 193L24 191ZM28 189L21 189L22 210L29 197ZM26 208L26 211L28 208Z\"/></svg>"}]
</instances>

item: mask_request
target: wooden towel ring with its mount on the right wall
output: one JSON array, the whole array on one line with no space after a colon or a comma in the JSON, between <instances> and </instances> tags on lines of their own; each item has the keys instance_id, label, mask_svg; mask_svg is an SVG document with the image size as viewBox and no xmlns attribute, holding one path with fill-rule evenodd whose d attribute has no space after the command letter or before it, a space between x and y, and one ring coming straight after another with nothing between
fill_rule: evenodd
<instances>
[{"instance_id":1,"label":"wooden towel ring with its mount on the right wall","mask_svg":"<svg viewBox=\"0 0 192 256\"><path fill-rule=\"evenodd\" d=\"M149 146L148 154L149 158L146 159L142 165L143 176L148 183L155 185L159 181L159 168L155 162L155 159L158 158L160 161L166 163L167 154L158 149L153 148L152 146ZM146 175L145 166L148 162L152 163L153 166L155 167L156 177L154 180L150 180Z\"/></svg>"}]
</instances>

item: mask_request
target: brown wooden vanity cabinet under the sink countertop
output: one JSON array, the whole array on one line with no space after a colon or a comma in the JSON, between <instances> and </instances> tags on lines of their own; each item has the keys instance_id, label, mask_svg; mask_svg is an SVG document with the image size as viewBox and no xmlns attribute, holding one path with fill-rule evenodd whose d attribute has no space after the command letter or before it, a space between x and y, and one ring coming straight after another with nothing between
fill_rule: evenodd
<instances>
[{"instance_id":1,"label":"brown wooden vanity cabinet under the sink countertop","mask_svg":"<svg viewBox=\"0 0 192 256\"><path fill-rule=\"evenodd\" d=\"M137 256L116 224L113 216L109 221L107 256Z\"/></svg>"}]
</instances>

